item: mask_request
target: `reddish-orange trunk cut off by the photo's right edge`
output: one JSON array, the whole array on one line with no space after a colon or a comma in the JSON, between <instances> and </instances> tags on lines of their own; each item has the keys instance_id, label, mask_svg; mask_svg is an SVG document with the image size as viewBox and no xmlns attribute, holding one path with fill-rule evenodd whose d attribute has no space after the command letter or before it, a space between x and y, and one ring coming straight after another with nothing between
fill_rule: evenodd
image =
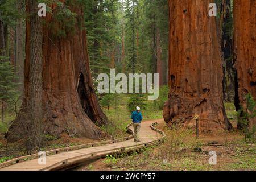
<instances>
[{"instance_id":1,"label":"reddish-orange trunk cut off by the photo's right edge","mask_svg":"<svg viewBox=\"0 0 256 182\"><path fill-rule=\"evenodd\" d=\"M234 1L234 62L237 71L235 105L246 108L251 93L256 100L256 1ZM253 121L256 124L256 119Z\"/></svg>"}]
</instances>

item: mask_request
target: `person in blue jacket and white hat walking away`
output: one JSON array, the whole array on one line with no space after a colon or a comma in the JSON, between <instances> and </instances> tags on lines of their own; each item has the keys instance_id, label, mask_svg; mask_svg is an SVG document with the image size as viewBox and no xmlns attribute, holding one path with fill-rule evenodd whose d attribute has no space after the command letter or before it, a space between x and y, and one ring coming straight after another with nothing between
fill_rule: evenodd
<instances>
[{"instance_id":1,"label":"person in blue jacket and white hat walking away","mask_svg":"<svg viewBox=\"0 0 256 182\"><path fill-rule=\"evenodd\" d=\"M134 142L141 142L139 139L139 130L141 130L141 121L143 119L141 108L136 107L136 110L131 113L131 119L133 119Z\"/></svg>"}]
</instances>

